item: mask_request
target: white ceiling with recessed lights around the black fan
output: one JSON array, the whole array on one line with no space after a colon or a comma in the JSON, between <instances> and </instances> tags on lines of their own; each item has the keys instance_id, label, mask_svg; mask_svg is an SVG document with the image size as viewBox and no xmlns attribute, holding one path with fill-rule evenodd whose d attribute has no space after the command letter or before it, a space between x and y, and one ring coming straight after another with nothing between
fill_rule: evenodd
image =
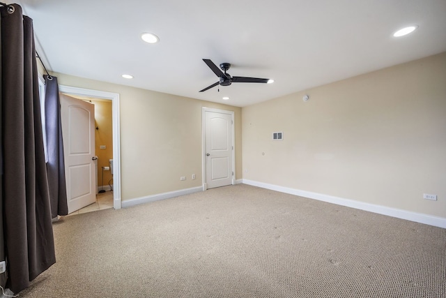
<instances>
[{"instance_id":1,"label":"white ceiling with recessed lights around the black fan","mask_svg":"<svg viewBox=\"0 0 446 298\"><path fill-rule=\"evenodd\" d=\"M240 107L446 51L445 0L17 3L33 19L49 70ZM417 31L392 36L411 24ZM144 43L143 32L160 43ZM275 83L199 93L218 80L203 58Z\"/></svg>"}]
</instances>

